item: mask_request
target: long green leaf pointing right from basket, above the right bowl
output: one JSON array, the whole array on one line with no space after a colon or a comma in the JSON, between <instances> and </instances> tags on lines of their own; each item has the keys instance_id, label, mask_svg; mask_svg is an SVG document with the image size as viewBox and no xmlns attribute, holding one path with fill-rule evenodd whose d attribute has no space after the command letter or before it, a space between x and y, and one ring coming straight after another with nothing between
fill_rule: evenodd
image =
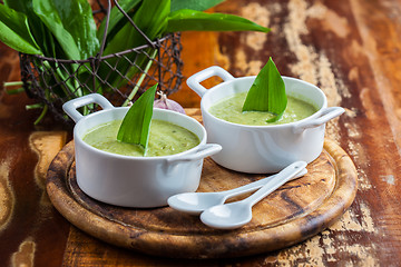
<instances>
[{"instance_id":1,"label":"long green leaf pointing right from basket, above the right bowl","mask_svg":"<svg viewBox=\"0 0 401 267\"><path fill-rule=\"evenodd\" d=\"M176 31L262 31L270 29L247 19L226 13L205 13L180 9L168 16L167 32Z\"/></svg>"}]
</instances>

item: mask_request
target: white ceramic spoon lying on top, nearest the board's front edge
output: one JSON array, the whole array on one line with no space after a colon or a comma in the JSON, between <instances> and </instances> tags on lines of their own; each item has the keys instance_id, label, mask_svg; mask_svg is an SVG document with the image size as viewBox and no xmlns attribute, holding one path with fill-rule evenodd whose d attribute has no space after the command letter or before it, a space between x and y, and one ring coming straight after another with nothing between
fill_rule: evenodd
<instances>
[{"instance_id":1,"label":"white ceramic spoon lying on top, nearest the board's front edge","mask_svg":"<svg viewBox=\"0 0 401 267\"><path fill-rule=\"evenodd\" d=\"M236 202L218 205L206 209L200 214L202 222L218 229L235 229L246 225L252 219L252 207L256 202L291 180L305 167L305 161L296 161L280 171L274 179L267 181L251 197Z\"/></svg>"}]
</instances>

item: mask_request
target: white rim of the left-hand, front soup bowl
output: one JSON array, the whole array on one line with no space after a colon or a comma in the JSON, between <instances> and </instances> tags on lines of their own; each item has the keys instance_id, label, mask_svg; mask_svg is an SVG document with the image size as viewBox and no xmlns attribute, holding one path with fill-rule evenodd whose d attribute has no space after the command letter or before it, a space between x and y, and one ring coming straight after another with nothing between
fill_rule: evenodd
<instances>
[{"instance_id":1,"label":"white rim of the left-hand, front soup bowl","mask_svg":"<svg viewBox=\"0 0 401 267\"><path fill-rule=\"evenodd\" d=\"M78 134L76 134L77 127L79 127L80 123L85 123L85 120L90 119L91 117L95 117L95 116L100 116L104 112L114 112L119 109L128 109L128 107L116 107L116 108L108 109L108 110L99 110L94 113L85 116L85 118L80 119L74 128L74 141L75 142L78 141L80 144L80 146L84 146L86 149L89 149L91 152L100 154L104 157L113 157L113 158L125 159L125 160L145 160L145 161L147 161L147 160L165 160L165 159L174 159L176 157L182 157L183 155L192 154L192 152L196 151L199 148L199 146L203 146L204 144L206 144L207 132L206 132L205 127L199 121L197 121L196 119L194 119L187 115L183 115L177 111L173 111L173 110L168 110L168 109L160 109L160 108L154 108L154 109L158 110L159 112L167 112L167 113L172 113L173 116L180 116L187 120L194 121L195 125L197 125L199 127L199 129L202 129L202 132L204 136L202 140L199 139L199 144L188 150L185 150L185 151L178 152L178 154L174 154L174 155L154 156L154 157L135 157L135 156L125 156L125 155L120 155L120 154L113 154L113 152L108 152L108 151L95 148L95 147L90 146L89 144L87 144L86 141L84 141L82 138L80 138L78 136ZM101 125L101 123L99 123L99 125ZM185 127L183 127L183 128L185 128ZM187 128L185 128L185 129L187 129ZM189 129L187 129L187 130L189 130ZM190 132L193 132L193 131L190 131ZM195 135L195 132L193 132L193 134Z\"/></svg>"}]
</instances>

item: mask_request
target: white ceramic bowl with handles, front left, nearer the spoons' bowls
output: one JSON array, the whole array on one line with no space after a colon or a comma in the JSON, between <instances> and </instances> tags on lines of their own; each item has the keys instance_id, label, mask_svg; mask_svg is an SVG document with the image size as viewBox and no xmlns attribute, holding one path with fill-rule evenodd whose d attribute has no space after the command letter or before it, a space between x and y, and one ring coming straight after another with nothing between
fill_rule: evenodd
<instances>
[{"instance_id":1,"label":"white ceramic bowl with handles, front left, nearer the spoons' bowls","mask_svg":"<svg viewBox=\"0 0 401 267\"><path fill-rule=\"evenodd\" d=\"M102 110L82 116L78 108L98 103ZM176 194L195 191L199 186L203 159L222 147L206 144L205 128L195 119L165 109L154 109L154 119L182 126L194 132L200 144L187 151L164 157L130 157L106 152L82 140L88 130L110 120L123 119L128 108L115 108L101 95L70 100L63 110L74 128L78 186L88 196L117 206L150 208L167 205Z\"/></svg>"}]
</instances>

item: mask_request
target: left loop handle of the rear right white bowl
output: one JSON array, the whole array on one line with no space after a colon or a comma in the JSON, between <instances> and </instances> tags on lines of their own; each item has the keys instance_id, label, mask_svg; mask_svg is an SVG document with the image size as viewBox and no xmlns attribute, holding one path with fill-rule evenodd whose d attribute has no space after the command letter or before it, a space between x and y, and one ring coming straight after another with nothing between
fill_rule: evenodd
<instances>
[{"instance_id":1,"label":"left loop handle of the rear right white bowl","mask_svg":"<svg viewBox=\"0 0 401 267\"><path fill-rule=\"evenodd\" d=\"M207 89L200 85L200 82L207 80L211 77L217 76L222 78L224 81L234 80L235 78L225 69L218 66L212 66L207 69L200 70L199 72L193 75L187 79L187 85L190 89L193 89L200 98Z\"/></svg>"}]
</instances>

